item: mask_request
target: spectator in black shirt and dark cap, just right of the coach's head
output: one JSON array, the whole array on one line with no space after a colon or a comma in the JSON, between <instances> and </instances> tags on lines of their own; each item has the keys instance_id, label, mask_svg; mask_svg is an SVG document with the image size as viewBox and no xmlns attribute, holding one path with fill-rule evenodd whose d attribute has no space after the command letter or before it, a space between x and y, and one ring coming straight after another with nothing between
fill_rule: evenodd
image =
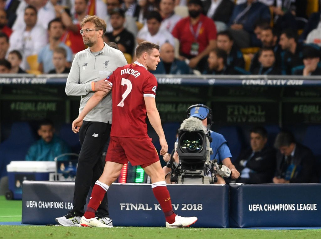
<instances>
[{"instance_id":1,"label":"spectator in black shirt and dark cap, just right of the coach's head","mask_svg":"<svg viewBox=\"0 0 321 239\"><path fill-rule=\"evenodd\" d=\"M125 11L121 8L112 9L110 12L110 23L112 32L106 32L105 42L115 42L119 50L123 53L133 55L135 39L134 35L125 29ZM107 39L106 39L107 38Z\"/></svg>"}]
</instances>

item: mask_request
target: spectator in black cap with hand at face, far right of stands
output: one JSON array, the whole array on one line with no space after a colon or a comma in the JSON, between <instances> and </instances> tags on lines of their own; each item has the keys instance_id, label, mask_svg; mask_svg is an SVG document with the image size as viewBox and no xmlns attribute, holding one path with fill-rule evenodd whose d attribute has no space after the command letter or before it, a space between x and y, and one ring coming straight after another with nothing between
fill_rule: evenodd
<instances>
[{"instance_id":1,"label":"spectator in black cap with hand at face, far right of stands","mask_svg":"<svg viewBox=\"0 0 321 239\"><path fill-rule=\"evenodd\" d=\"M302 51L303 66L292 69L292 75L321 76L320 51L313 46L306 46Z\"/></svg>"}]
</instances>

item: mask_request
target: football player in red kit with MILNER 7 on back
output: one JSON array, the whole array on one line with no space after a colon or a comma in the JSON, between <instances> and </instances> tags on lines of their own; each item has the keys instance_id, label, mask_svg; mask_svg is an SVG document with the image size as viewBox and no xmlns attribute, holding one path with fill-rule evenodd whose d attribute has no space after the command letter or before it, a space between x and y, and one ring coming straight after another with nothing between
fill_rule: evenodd
<instances>
[{"instance_id":1,"label":"football player in red kit with MILNER 7 on back","mask_svg":"<svg viewBox=\"0 0 321 239\"><path fill-rule=\"evenodd\" d=\"M195 223L196 217L177 216L172 208L169 191L165 183L158 153L147 135L146 113L152 127L160 139L160 155L165 155L168 145L156 108L156 77L148 70L155 70L160 62L159 46L142 42L136 48L133 64L117 68L107 80L112 85L112 127L110 143L106 155L106 165L101 177L92 189L87 211L80 224L87 227L108 227L95 218L100 201L109 186L117 179L128 161L140 165L152 180L152 190L164 212L166 227L188 227ZM108 92L97 91L87 102L77 119L73 122L76 133L82 119L94 108Z\"/></svg>"}]
</instances>

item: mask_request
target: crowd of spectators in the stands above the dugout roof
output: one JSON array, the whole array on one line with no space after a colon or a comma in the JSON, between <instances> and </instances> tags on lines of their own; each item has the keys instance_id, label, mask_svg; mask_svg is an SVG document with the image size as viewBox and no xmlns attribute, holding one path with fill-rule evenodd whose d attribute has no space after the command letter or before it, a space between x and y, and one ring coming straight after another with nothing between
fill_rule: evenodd
<instances>
[{"instance_id":1,"label":"crowd of spectators in the stands above the dugout roof","mask_svg":"<svg viewBox=\"0 0 321 239\"><path fill-rule=\"evenodd\" d=\"M321 73L317 0L1 1L3 72L68 73L86 47L79 24L87 15L106 21L105 42L115 42L129 63L138 43L159 44L157 74ZM57 47L65 49L59 57Z\"/></svg>"}]
</instances>

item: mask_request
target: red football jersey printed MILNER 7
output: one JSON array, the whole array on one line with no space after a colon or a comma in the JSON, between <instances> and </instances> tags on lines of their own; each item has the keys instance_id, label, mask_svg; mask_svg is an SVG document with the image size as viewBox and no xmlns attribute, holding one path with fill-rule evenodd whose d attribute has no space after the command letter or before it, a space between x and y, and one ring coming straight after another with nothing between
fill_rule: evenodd
<instances>
[{"instance_id":1,"label":"red football jersey printed MILNER 7","mask_svg":"<svg viewBox=\"0 0 321 239\"><path fill-rule=\"evenodd\" d=\"M155 98L156 77L135 61L133 64L118 67L107 79L113 85L110 136L148 137L144 97Z\"/></svg>"}]
</instances>

